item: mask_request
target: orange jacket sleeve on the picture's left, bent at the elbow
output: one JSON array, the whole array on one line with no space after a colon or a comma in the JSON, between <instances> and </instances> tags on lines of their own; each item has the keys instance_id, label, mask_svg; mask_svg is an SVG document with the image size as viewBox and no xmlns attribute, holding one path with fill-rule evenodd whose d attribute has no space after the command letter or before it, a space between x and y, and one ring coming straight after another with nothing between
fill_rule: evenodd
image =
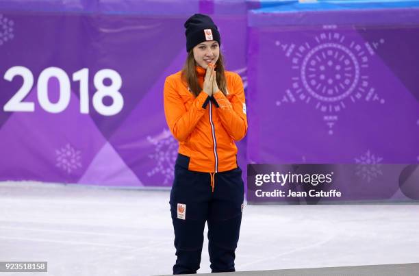
<instances>
[{"instance_id":1,"label":"orange jacket sleeve on the picture's left, bent at the elbow","mask_svg":"<svg viewBox=\"0 0 419 276\"><path fill-rule=\"evenodd\" d=\"M169 77L164 81L164 114L170 132L177 140L182 142L188 138L196 123L205 114L203 104L208 95L201 91L190 105L190 109L186 110L174 82Z\"/></svg>"}]
</instances>

